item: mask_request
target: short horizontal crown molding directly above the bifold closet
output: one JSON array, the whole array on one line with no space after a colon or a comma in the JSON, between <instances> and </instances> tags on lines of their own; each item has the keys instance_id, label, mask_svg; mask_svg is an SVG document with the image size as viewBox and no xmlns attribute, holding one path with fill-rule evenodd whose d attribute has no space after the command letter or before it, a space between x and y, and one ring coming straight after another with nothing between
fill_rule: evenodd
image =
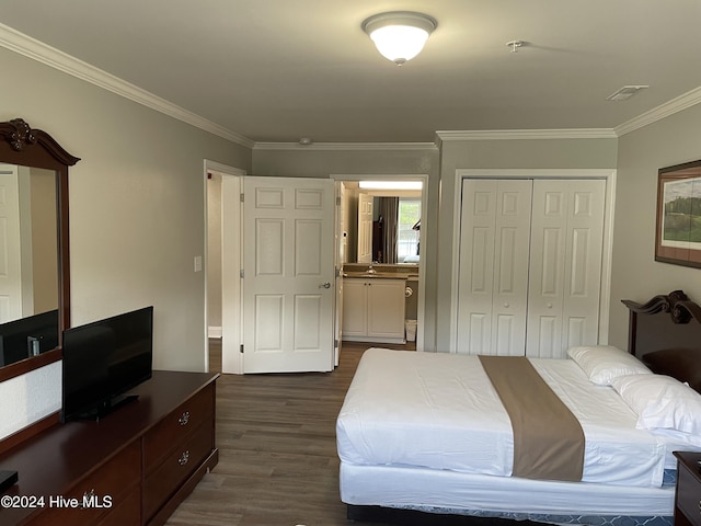
<instances>
[{"instance_id":1,"label":"short horizontal crown molding directly above the bifold closet","mask_svg":"<svg viewBox=\"0 0 701 526\"><path fill-rule=\"evenodd\" d=\"M475 129L439 130L436 136L443 141L451 140L524 140L524 139L614 139L611 128L572 129Z\"/></svg>"}]
</instances>

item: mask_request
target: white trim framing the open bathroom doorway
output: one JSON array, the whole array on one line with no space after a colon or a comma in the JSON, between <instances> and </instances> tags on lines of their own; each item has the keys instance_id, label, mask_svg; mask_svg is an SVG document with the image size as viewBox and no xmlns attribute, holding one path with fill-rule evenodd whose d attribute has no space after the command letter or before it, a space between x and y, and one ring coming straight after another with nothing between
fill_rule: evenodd
<instances>
[{"instance_id":1,"label":"white trim framing the open bathroom doorway","mask_svg":"<svg viewBox=\"0 0 701 526\"><path fill-rule=\"evenodd\" d=\"M332 173L330 179L335 181L336 195L338 194L338 186L342 182L357 182L357 181L421 181L421 226L423 232L428 232L428 174L427 173ZM335 230L340 228L335 226ZM338 253L338 239L334 247L335 253ZM425 238L422 238L422 245L426 247ZM423 268L422 268L423 267ZM418 270L418 301L416 305L416 351L424 351L424 322L425 322L425 301L426 301L426 268L425 264L420 262ZM336 311L341 308L340 305L335 306Z\"/></svg>"}]
</instances>

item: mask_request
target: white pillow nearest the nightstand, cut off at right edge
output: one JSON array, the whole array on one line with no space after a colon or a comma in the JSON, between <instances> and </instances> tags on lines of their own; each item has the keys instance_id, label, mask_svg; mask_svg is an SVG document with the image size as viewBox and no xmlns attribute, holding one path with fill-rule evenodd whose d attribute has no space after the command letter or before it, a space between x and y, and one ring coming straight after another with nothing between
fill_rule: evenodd
<instances>
[{"instance_id":1,"label":"white pillow nearest the nightstand, cut off at right edge","mask_svg":"<svg viewBox=\"0 0 701 526\"><path fill-rule=\"evenodd\" d=\"M701 435L701 395L670 376L619 376L611 386L637 414L639 430Z\"/></svg>"}]
</instances>

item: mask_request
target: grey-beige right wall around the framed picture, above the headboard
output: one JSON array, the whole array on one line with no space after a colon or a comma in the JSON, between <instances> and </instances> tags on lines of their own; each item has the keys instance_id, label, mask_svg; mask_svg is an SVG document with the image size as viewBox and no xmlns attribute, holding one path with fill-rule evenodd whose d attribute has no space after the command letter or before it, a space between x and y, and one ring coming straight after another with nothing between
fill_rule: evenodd
<instances>
[{"instance_id":1,"label":"grey-beige right wall around the framed picture, above the headboard","mask_svg":"<svg viewBox=\"0 0 701 526\"><path fill-rule=\"evenodd\" d=\"M657 170L701 159L701 104L619 138L613 229L610 343L628 342L628 309L621 299L644 302L682 289L701 301L701 268L655 261Z\"/></svg>"}]
</instances>

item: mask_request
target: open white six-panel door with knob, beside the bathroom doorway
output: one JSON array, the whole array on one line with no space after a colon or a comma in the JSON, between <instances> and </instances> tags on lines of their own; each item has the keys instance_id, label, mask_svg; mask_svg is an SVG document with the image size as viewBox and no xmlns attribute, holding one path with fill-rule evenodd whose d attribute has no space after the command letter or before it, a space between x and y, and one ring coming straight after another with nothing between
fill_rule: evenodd
<instances>
[{"instance_id":1,"label":"open white six-panel door with knob, beside the bathroom doorway","mask_svg":"<svg viewBox=\"0 0 701 526\"><path fill-rule=\"evenodd\" d=\"M334 186L245 178L244 373L333 368Z\"/></svg>"}]
</instances>

